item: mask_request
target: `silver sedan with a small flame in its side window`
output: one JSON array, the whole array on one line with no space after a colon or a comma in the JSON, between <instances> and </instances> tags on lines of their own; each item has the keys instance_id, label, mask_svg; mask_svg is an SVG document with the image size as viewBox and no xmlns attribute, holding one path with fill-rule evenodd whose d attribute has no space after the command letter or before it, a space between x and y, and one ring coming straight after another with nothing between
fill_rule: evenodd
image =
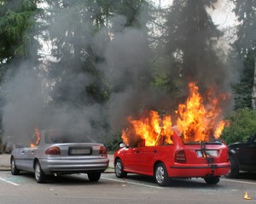
<instances>
[{"instance_id":1,"label":"silver sedan with a small flame in its side window","mask_svg":"<svg viewBox=\"0 0 256 204\"><path fill-rule=\"evenodd\" d=\"M35 173L38 183L44 183L47 175L87 173L90 181L96 182L108 168L109 159L103 144L89 140L76 131L35 130L29 147L12 151L11 173Z\"/></svg>"}]
</instances>

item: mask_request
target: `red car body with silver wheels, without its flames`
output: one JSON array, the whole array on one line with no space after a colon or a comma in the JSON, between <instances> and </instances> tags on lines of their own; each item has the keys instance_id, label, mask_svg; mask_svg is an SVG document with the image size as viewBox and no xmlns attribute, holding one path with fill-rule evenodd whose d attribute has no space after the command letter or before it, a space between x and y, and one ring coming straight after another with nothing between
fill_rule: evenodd
<instances>
[{"instance_id":1,"label":"red car body with silver wheels, without its flames","mask_svg":"<svg viewBox=\"0 0 256 204\"><path fill-rule=\"evenodd\" d=\"M149 175L160 186L168 184L169 178L204 178L207 184L218 184L220 176L230 171L228 147L220 139L184 143L177 133L171 144L164 139L155 146L120 144L113 162L118 178L127 173Z\"/></svg>"}]
</instances>

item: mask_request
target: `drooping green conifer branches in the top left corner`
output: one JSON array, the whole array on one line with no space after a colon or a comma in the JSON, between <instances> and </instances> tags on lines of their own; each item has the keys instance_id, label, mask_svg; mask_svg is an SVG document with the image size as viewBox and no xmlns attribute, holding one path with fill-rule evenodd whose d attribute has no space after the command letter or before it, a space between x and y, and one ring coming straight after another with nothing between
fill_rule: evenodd
<instances>
[{"instance_id":1,"label":"drooping green conifer branches in the top left corner","mask_svg":"<svg viewBox=\"0 0 256 204\"><path fill-rule=\"evenodd\" d=\"M3 1L0 4L0 60L30 54L32 27L38 14L36 0Z\"/></svg>"}]
</instances>

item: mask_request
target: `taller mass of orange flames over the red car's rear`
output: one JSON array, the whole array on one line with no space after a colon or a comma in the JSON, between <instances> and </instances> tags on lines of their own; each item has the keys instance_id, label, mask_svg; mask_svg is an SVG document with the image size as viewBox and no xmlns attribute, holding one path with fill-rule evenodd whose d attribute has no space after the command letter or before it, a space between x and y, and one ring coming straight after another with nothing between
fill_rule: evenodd
<instances>
[{"instance_id":1,"label":"taller mass of orange flames over the red car's rear","mask_svg":"<svg viewBox=\"0 0 256 204\"><path fill-rule=\"evenodd\" d=\"M199 94L195 82L189 83L189 99L178 105L177 128L183 133L185 141L207 141L218 139L227 122L221 119L219 99L207 92L206 102ZM223 98L224 99L224 98Z\"/></svg>"}]
</instances>

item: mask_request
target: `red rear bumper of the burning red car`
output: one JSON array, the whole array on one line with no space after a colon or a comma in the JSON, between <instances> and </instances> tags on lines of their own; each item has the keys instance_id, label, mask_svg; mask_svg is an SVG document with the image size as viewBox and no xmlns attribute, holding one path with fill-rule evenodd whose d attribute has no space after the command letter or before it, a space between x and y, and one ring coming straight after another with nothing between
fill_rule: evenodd
<instances>
[{"instance_id":1,"label":"red rear bumper of the burning red car","mask_svg":"<svg viewBox=\"0 0 256 204\"><path fill-rule=\"evenodd\" d=\"M222 176L230 171L230 163L203 164L203 165L184 165L178 164L168 168L169 177L195 178L207 176Z\"/></svg>"}]
</instances>

